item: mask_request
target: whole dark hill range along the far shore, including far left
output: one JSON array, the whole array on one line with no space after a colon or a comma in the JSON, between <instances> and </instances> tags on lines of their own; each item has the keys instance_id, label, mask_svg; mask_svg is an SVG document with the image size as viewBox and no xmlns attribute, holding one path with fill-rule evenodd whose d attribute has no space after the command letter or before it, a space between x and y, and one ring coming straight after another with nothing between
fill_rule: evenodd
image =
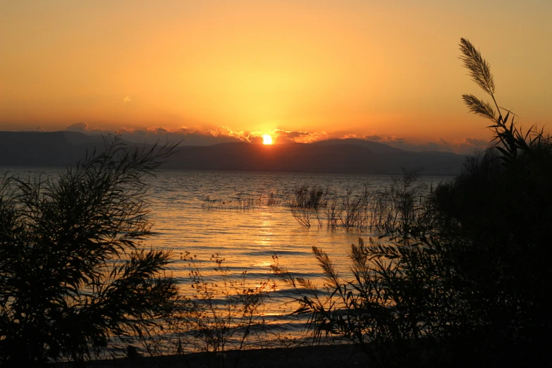
<instances>
[{"instance_id":1,"label":"whole dark hill range along the far shore, including far left","mask_svg":"<svg viewBox=\"0 0 552 368\"><path fill-rule=\"evenodd\" d=\"M82 133L0 132L0 166L68 166L86 150L102 147L102 137ZM161 167L304 173L400 173L406 168L422 169L428 175L453 175L460 172L464 159L448 152L408 152L348 139L271 146L243 142L181 146Z\"/></svg>"}]
</instances>

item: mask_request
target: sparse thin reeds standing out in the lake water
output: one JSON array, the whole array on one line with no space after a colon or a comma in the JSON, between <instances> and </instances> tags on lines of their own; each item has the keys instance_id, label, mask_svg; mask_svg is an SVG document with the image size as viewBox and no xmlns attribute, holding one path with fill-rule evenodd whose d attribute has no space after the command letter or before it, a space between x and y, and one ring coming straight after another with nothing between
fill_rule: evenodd
<instances>
[{"instance_id":1,"label":"sparse thin reeds standing out in the lake water","mask_svg":"<svg viewBox=\"0 0 552 368\"><path fill-rule=\"evenodd\" d=\"M250 211L264 206L287 208L301 226L310 228L343 228L348 231L375 231L392 235L401 219L414 223L417 207L427 188L417 183L416 171L391 177L391 183L379 190L369 190L368 183L360 189L346 188L338 192L319 184L298 185L290 192L269 192L267 195L238 196L230 200L205 197L202 208L208 211ZM405 229L407 230L407 229Z\"/></svg>"}]
</instances>

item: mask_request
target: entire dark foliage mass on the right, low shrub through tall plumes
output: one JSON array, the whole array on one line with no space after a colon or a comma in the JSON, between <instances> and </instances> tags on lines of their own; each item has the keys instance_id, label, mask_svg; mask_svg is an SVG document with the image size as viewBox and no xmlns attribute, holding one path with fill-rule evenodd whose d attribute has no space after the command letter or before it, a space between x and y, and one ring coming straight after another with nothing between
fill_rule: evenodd
<instances>
[{"instance_id":1,"label":"entire dark foliage mass on the right, low shrub through tall plumes","mask_svg":"<svg viewBox=\"0 0 552 368\"><path fill-rule=\"evenodd\" d=\"M405 202L420 221L352 245L349 280L317 247L326 290L275 266L300 286L297 313L309 313L315 336L346 336L382 366L530 366L548 350L551 138L534 126L523 133L496 103L489 64L466 39L460 49L496 108L463 96L493 122L493 146L424 201Z\"/></svg>"}]
</instances>

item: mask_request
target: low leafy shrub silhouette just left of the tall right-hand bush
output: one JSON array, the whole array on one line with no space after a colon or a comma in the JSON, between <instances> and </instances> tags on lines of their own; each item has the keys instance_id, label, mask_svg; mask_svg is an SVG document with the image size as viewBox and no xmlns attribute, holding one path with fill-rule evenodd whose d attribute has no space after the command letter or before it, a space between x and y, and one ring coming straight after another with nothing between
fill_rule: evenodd
<instances>
[{"instance_id":1,"label":"low leafy shrub silhouette just left of the tall right-hand bush","mask_svg":"<svg viewBox=\"0 0 552 368\"><path fill-rule=\"evenodd\" d=\"M409 176L409 174L405 174ZM407 178L405 178L407 180ZM414 189L403 192L415 196ZM405 213L430 213L430 208L408 201ZM429 201L422 205L431 206ZM423 227L415 227L424 219ZM419 355L430 336L443 336L459 326L461 302L453 284L458 281L446 266L441 238L422 235L429 219L398 216L393 236L386 243L359 239L350 250L350 272L343 277L328 255L312 247L326 276L323 288L297 278L278 264L273 270L298 293L295 314L307 314L308 326L318 341L344 336L357 343L374 364L393 366L422 363ZM403 233L407 229L409 233ZM462 239L455 240L455 245Z\"/></svg>"}]
</instances>

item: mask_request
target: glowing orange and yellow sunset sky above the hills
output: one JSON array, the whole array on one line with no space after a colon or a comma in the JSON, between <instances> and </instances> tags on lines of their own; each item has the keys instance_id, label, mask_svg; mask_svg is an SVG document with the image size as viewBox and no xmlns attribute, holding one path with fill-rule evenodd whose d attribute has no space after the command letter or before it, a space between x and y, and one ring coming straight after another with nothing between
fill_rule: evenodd
<instances>
[{"instance_id":1,"label":"glowing orange and yellow sunset sky above the hills","mask_svg":"<svg viewBox=\"0 0 552 368\"><path fill-rule=\"evenodd\" d=\"M499 104L551 123L552 1L384 3L2 1L0 130L80 122L470 149L490 133L462 105L484 94L460 37L491 63Z\"/></svg>"}]
</instances>

